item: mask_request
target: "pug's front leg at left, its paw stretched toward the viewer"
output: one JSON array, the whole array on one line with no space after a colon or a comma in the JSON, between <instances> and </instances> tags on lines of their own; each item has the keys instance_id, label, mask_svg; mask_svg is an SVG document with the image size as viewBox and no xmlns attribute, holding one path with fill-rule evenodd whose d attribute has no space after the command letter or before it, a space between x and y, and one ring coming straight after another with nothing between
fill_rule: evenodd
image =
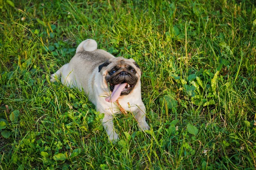
<instances>
[{"instance_id":1,"label":"pug's front leg at left, its paw stretched toward the viewer","mask_svg":"<svg viewBox=\"0 0 256 170\"><path fill-rule=\"evenodd\" d=\"M106 130L106 133L108 134L108 140L110 142L116 142L119 139L119 137L118 137L118 134L114 130L113 115L105 113L105 116L102 119L102 125L103 125L104 129Z\"/></svg>"}]
</instances>

